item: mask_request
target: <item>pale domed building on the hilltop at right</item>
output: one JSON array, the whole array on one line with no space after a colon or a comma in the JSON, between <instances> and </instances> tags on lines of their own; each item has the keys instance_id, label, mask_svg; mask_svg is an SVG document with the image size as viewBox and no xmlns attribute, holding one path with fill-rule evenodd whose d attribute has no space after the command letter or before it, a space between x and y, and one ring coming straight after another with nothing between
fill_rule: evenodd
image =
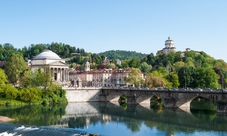
<instances>
[{"instance_id":1,"label":"pale domed building on the hilltop at right","mask_svg":"<svg viewBox=\"0 0 227 136\"><path fill-rule=\"evenodd\" d=\"M159 50L157 52L157 55L160 53L169 54L171 52L176 52L176 47L174 46L173 40L171 40L170 37L168 37L168 39L165 41L165 48L163 48L162 50Z\"/></svg>"}]
</instances>

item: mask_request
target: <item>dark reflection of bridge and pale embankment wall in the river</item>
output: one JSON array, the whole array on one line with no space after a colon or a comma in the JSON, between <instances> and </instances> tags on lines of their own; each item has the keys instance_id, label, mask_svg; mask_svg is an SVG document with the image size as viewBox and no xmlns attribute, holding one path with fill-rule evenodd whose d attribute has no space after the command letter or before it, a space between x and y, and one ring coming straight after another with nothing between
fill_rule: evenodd
<instances>
[{"instance_id":1,"label":"dark reflection of bridge and pale embankment wall in the river","mask_svg":"<svg viewBox=\"0 0 227 136\"><path fill-rule=\"evenodd\" d=\"M79 108L80 105L83 105L83 109ZM71 108L75 108L71 110ZM91 114L96 113L94 116L89 116ZM84 116L81 116L84 114ZM216 130L216 131L226 131L226 126L224 125L227 121L227 118L224 116L216 116L215 114L207 115L207 116L199 116L203 118L197 118L193 114L188 114L181 110L176 109L165 109L164 111L154 111L149 107L144 106L128 106L126 110L124 110L119 105L113 103L70 103L66 107L66 115L64 118L66 119L68 116L72 115L75 118L83 118L84 124L80 124L81 126L87 126L87 119L92 119L93 123L96 121L104 121L103 116L109 116L111 121L113 122L122 122L122 123L131 123L136 122L152 122L151 124L159 124L160 126L166 128L174 128L176 130L185 130L186 132L195 128L205 129L205 130ZM98 116L98 120L97 120ZM208 120L210 119L210 120ZM212 120L212 121L211 121ZM78 123L75 121L75 123ZM91 122L92 123L92 122ZM76 125L76 124L75 124Z\"/></svg>"}]
</instances>

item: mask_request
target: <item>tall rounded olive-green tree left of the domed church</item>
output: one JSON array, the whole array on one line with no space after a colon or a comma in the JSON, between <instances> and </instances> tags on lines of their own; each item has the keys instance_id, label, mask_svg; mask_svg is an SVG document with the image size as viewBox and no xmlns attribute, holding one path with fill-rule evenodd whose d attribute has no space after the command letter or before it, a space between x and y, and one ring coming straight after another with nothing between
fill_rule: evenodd
<instances>
[{"instance_id":1,"label":"tall rounded olive-green tree left of the domed church","mask_svg":"<svg viewBox=\"0 0 227 136\"><path fill-rule=\"evenodd\" d=\"M14 86L17 84L19 78L24 76L23 73L27 69L23 57L19 54L11 54L7 59L5 72L10 83Z\"/></svg>"}]
</instances>

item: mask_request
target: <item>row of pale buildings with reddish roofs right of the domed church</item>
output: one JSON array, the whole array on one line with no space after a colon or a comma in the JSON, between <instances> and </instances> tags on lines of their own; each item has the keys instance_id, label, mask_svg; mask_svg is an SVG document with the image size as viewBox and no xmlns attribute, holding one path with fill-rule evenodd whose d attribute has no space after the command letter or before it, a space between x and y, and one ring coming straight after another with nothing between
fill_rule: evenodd
<instances>
[{"instance_id":1,"label":"row of pale buildings with reddish roofs right of the domed church","mask_svg":"<svg viewBox=\"0 0 227 136\"><path fill-rule=\"evenodd\" d=\"M104 65L104 64L101 64ZM69 72L69 80L74 87L115 87L125 86L124 78L131 69L90 69L89 62L85 64L85 70L72 69Z\"/></svg>"}]
</instances>

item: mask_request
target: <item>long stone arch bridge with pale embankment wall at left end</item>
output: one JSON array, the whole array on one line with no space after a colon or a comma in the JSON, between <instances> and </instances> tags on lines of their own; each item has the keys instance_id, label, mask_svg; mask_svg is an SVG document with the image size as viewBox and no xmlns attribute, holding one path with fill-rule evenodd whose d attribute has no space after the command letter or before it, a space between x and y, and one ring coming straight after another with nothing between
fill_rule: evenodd
<instances>
[{"instance_id":1,"label":"long stone arch bridge with pale embankment wall at left end","mask_svg":"<svg viewBox=\"0 0 227 136\"><path fill-rule=\"evenodd\" d=\"M127 97L129 104L149 104L153 95L164 100L165 107L190 108L190 103L197 97L205 98L213 103L217 100L227 100L227 92L195 91L195 90L151 90L129 88L80 88L66 89L69 102L79 101L110 101L116 102L121 95Z\"/></svg>"}]
</instances>

